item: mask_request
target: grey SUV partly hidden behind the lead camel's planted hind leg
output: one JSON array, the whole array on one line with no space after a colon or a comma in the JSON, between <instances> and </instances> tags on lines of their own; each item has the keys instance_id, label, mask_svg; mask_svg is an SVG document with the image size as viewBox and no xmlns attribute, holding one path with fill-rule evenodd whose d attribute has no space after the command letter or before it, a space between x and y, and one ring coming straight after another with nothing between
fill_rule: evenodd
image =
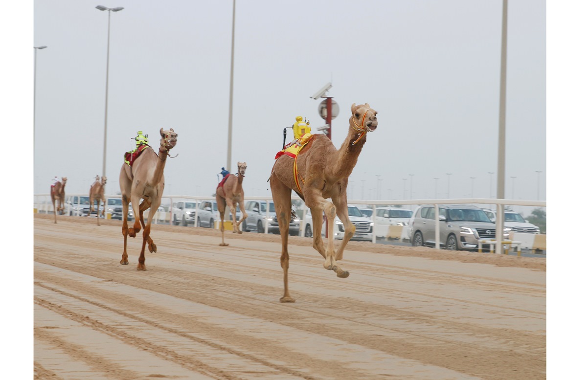
<instances>
[{"instance_id":1,"label":"grey SUV partly hidden behind the lead camel's planted hind leg","mask_svg":"<svg viewBox=\"0 0 587 380\"><path fill-rule=\"evenodd\" d=\"M267 203L269 203L269 213L267 213ZM275 213L273 202L266 201L248 201L245 203L247 219L242 222L242 230L245 232L265 232L265 225L269 223L268 233L279 233L279 223ZM289 235L299 235L299 218L293 215L289 218Z\"/></svg>"}]
</instances>

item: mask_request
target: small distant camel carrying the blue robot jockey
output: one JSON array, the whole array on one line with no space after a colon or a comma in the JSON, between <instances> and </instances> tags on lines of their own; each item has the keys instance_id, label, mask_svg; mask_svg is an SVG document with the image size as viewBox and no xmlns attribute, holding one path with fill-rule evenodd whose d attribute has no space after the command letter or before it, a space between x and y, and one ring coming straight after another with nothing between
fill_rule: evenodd
<instances>
[{"instance_id":1,"label":"small distant camel carrying the blue robot jockey","mask_svg":"<svg viewBox=\"0 0 587 380\"><path fill-rule=\"evenodd\" d=\"M224 212L226 206L228 205L228 209L230 209L230 212L232 213L232 233L242 233L238 227L243 220L247 219L247 212L245 212L245 208L242 206L242 202L245 199L245 192L242 190L242 179L245 178L247 162L238 162L237 166L238 175L228 174L228 178L226 178L224 184L218 185L218 188L216 188L216 204L218 205L218 213L220 214L220 230L222 232L221 246L228 245L227 243L224 243ZM238 220L238 222L236 221L237 203L242 213L241 220Z\"/></svg>"}]
</instances>

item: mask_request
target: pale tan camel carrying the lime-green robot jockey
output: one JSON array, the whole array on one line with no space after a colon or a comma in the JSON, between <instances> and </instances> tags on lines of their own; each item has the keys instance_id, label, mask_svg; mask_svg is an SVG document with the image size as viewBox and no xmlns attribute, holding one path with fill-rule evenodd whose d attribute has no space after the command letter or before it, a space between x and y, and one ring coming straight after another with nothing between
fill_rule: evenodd
<instances>
[{"instance_id":1,"label":"pale tan camel carrying the lime-green robot jockey","mask_svg":"<svg viewBox=\"0 0 587 380\"><path fill-rule=\"evenodd\" d=\"M139 256L137 270L147 270L145 267L145 245L149 243L149 252L157 252L157 246L150 237L151 221L161 205L161 195L165 186L165 177L163 169L171 148L177 144L177 133L170 128L159 131L161 134L160 147L158 153L153 148L147 147L133 162L133 166L122 164L120 169L120 193L122 194L122 235L124 236L124 250L122 253L123 265L129 264L129 255L126 253L126 237L135 237L143 226L143 246ZM141 202L141 199L143 201ZM127 215L129 214L129 202L133 204L134 225L129 228L127 225ZM149 209L149 218L145 224L143 211ZM137 218L137 215L139 218ZM139 223L140 221L140 223Z\"/></svg>"}]
</instances>

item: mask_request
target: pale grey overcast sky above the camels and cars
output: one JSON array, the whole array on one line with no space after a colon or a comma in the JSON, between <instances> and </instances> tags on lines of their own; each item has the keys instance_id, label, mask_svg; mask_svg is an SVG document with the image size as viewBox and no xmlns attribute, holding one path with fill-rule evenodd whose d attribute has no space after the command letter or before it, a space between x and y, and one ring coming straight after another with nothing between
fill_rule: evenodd
<instances>
[{"instance_id":1,"label":"pale grey overcast sky above the camels and cars","mask_svg":"<svg viewBox=\"0 0 587 380\"><path fill-rule=\"evenodd\" d=\"M296 116L325 124L310 96L327 82L336 147L352 103L379 112L349 198L496 194L497 0L237 1L230 164L232 1L36 0L34 46L48 48L36 57L35 194L55 175L86 193L102 174L108 12L98 4L124 7L110 24L108 194L137 130L157 145L163 127L179 135L165 194L211 195L221 167L246 161L245 196L270 195L283 128ZM507 59L505 198L544 200L545 0L509 2Z\"/></svg>"}]
</instances>

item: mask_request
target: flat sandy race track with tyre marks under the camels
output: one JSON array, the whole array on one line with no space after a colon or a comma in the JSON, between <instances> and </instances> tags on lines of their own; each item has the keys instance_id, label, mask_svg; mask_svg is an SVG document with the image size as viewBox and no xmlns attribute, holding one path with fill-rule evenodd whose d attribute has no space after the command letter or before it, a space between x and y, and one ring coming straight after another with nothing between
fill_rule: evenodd
<instances>
[{"instance_id":1,"label":"flat sandy race track with tyre marks under the camels","mask_svg":"<svg viewBox=\"0 0 587 380\"><path fill-rule=\"evenodd\" d=\"M546 378L546 259L36 214L35 379ZM336 243L337 246L339 243Z\"/></svg>"}]
</instances>

